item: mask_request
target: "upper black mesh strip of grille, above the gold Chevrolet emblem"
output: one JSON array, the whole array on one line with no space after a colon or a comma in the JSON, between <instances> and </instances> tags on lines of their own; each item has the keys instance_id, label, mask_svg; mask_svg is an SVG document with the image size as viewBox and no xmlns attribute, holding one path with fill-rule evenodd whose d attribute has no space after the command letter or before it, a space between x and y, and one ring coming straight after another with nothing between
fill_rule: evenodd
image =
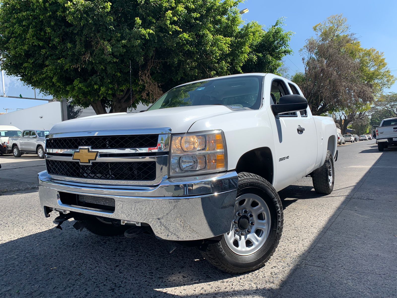
<instances>
[{"instance_id":1,"label":"upper black mesh strip of grille, above the gold Chevrolet emblem","mask_svg":"<svg viewBox=\"0 0 397 298\"><path fill-rule=\"evenodd\" d=\"M158 135L110 135L95 137L50 138L47 149L78 149L91 146L91 149L123 149L156 147Z\"/></svg>"}]
</instances>

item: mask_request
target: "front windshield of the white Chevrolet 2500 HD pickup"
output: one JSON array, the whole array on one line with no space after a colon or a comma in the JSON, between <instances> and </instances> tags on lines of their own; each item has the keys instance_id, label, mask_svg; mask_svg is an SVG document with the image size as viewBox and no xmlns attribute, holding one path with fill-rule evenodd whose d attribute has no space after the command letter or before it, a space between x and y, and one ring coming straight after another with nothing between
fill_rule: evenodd
<instances>
[{"instance_id":1,"label":"front windshield of the white Chevrolet 2500 HD pickup","mask_svg":"<svg viewBox=\"0 0 397 298\"><path fill-rule=\"evenodd\" d=\"M212 104L235 105L257 110L261 103L260 76L245 75L212 79L175 87L164 94L147 110L178 106Z\"/></svg>"}]
</instances>

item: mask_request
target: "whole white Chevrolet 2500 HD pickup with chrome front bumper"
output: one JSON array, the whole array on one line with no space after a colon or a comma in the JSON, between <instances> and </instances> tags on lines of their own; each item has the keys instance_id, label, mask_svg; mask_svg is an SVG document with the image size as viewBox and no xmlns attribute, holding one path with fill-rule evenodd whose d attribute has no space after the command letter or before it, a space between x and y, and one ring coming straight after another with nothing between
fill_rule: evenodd
<instances>
[{"instance_id":1,"label":"whole white Chevrolet 2500 HD pickup with chrome front bumper","mask_svg":"<svg viewBox=\"0 0 397 298\"><path fill-rule=\"evenodd\" d=\"M334 185L334 121L312 116L299 87L274 74L179 85L145 112L64 121L46 137L40 203L46 217L59 212L59 228L73 218L98 235L151 232L230 273L276 249L279 190L305 176L320 194Z\"/></svg>"}]
</instances>

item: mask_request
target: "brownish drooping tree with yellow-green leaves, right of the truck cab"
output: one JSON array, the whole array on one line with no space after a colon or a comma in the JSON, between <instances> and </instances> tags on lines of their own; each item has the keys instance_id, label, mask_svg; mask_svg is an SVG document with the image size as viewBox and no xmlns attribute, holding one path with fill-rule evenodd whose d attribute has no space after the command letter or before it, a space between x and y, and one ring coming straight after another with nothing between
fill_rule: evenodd
<instances>
[{"instance_id":1,"label":"brownish drooping tree with yellow-green leaves, right of the truck cab","mask_svg":"<svg viewBox=\"0 0 397 298\"><path fill-rule=\"evenodd\" d=\"M344 133L370 109L374 96L395 82L383 53L362 48L343 15L313 27L316 37L301 50L304 73L292 80L301 86L313 114L331 112Z\"/></svg>"}]
</instances>

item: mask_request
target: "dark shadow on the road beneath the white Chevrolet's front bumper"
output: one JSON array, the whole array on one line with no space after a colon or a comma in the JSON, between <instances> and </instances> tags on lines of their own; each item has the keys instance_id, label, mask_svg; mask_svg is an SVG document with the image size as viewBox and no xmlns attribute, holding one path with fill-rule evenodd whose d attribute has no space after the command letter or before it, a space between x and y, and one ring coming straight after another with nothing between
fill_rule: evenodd
<instances>
[{"instance_id":1,"label":"dark shadow on the road beneath the white Chevrolet's front bumper","mask_svg":"<svg viewBox=\"0 0 397 298\"><path fill-rule=\"evenodd\" d=\"M79 297L152 297L156 288L232 277L196 248L178 246L170 254L153 236L101 237L73 223L0 245L0 297L73 297L77 290Z\"/></svg>"}]
</instances>

